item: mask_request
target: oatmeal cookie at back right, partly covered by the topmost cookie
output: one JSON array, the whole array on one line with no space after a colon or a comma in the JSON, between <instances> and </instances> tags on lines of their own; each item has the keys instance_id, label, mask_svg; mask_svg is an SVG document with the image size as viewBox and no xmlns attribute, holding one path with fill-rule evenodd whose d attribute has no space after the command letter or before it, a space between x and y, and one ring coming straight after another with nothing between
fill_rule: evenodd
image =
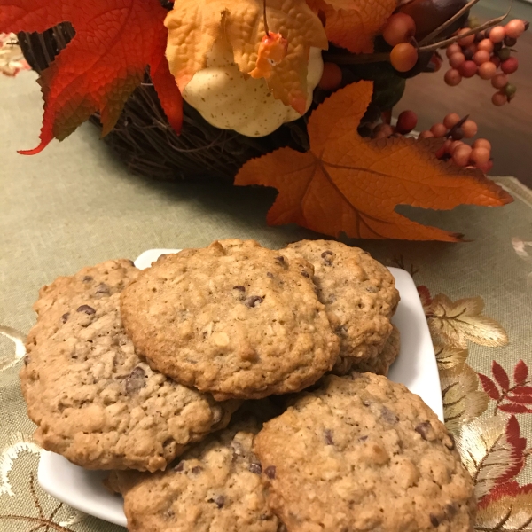
<instances>
[{"instance_id":1,"label":"oatmeal cookie at back right, partly covered by the topmost cookie","mask_svg":"<svg viewBox=\"0 0 532 532\"><path fill-rule=\"evenodd\" d=\"M362 249L332 240L301 240L279 251L314 266L319 301L340 336L340 356L370 360L392 331L399 293L395 279Z\"/></svg>"}]
</instances>

